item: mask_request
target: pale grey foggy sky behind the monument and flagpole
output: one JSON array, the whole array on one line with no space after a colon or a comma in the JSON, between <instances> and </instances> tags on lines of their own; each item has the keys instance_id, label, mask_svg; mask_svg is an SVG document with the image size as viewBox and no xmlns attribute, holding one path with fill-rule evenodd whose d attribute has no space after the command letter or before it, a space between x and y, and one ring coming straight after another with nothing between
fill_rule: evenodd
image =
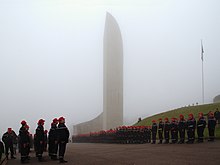
<instances>
[{"instance_id":1,"label":"pale grey foggy sky behind the monument and flagpole","mask_svg":"<svg viewBox=\"0 0 220 165\"><path fill-rule=\"evenodd\" d=\"M0 136L25 119L67 125L102 112L106 11L124 51L124 121L220 94L218 0L0 0Z\"/></svg>"}]
</instances>

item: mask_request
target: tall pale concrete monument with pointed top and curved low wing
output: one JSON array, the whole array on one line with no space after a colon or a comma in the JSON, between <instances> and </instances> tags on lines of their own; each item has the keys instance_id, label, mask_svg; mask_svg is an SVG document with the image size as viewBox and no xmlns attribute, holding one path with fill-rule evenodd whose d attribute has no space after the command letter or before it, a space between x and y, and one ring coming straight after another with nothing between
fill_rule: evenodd
<instances>
[{"instance_id":1,"label":"tall pale concrete monument with pointed top and curved low wing","mask_svg":"<svg viewBox=\"0 0 220 165\"><path fill-rule=\"evenodd\" d=\"M73 134L114 129L123 124L123 44L119 26L107 13L103 42L103 112L73 126Z\"/></svg>"}]
</instances>

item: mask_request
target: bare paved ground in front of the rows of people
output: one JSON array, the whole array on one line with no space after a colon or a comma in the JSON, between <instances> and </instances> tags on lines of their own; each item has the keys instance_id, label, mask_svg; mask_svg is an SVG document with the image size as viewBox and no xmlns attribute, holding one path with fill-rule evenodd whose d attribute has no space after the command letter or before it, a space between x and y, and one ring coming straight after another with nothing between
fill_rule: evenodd
<instances>
[{"instance_id":1,"label":"bare paved ground in front of the rows of people","mask_svg":"<svg viewBox=\"0 0 220 165\"><path fill-rule=\"evenodd\" d=\"M44 154L46 155L46 153ZM59 164L45 156L39 163L31 158L31 165ZM220 141L203 144L69 144L66 165L220 165ZM19 159L8 165L20 164Z\"/></svg>"}]
</instances>

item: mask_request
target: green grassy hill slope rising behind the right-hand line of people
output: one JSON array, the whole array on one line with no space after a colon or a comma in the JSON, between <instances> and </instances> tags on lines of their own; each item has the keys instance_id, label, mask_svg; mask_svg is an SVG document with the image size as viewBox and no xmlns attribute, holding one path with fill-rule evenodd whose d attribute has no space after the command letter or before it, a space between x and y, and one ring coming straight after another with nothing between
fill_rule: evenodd
<instances>
[{"instance_id":1,"label":"green grassy hill slope rising behind the right-hand line of people","mask_svg":"<svg viewBox=\"0 0 220 165\"><path fill-rule=\"evenodd\" d=\"M167 111L167 112L163 112L163 113L160 113L160 114L156 114L156 115L147 117L147 118L143 119L142 121L140 121L140 122L138 122L134 125L136 125L136 126L140 126L140 125L147 126L147 125L152 124L152 120L157 120L158 121L159 118L164 119L165 117L168 117L169 119L171 119L172 117L179 118L180 114L184 115L185 118L187 119L189 113L192 113L194 115L194 117L196 118L196 120L197 120L199 112L203 112L203 114L206 115L209 111L215 112L216 108L218 108L220 110L220 103L178 108L178 109L174 109L174 110L171 110L171 111ZM205 129L205 137L206 138L208 137L207 129ZM216 127L216 137L220 138L220 124L218 124L217 127Z\"/></svg>"}]
</instances>

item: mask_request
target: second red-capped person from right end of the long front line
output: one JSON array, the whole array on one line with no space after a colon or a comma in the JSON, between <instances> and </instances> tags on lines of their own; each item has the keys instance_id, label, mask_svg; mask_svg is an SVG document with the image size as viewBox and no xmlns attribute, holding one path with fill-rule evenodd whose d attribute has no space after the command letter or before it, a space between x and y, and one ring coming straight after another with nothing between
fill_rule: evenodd
<instances>
[{"instance_id":1,"label":"second red-capped person from right end of the long front line","mask_svg":"<svg viewBox=\"0 0 220 165\"><path fill-rule=\"evenodd\" d=\"M197 135L198 135L198 143L202 143L203 142L203 138L204 138L204 130L206 127L206 120L203 116L203 113L200 112L199 116L198 116L198 121L197 121Z\"/></svg>"}]
</instances>

